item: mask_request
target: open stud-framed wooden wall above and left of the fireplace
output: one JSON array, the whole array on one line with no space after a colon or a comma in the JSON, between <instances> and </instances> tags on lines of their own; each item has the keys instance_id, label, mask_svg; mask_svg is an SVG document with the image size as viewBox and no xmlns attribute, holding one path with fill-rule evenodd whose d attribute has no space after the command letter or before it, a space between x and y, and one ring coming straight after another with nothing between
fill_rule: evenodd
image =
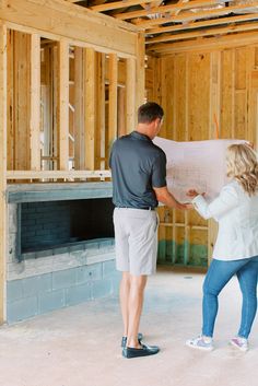
<instances>
[{"instance_id":1,"label":"open stud-framed wooden wall above and left of the fireplace","mask_svg":"<svg viewBox=\"0 0 258 386\"><path fill-rule=\"evenodd\" d=\"M8 185L110 178L110 145L134 128L137 107L144 100L144 39L133 25L59 0L1 2L0 30L3 323L8 297L14 300L12 281L25 280L28 273L26 265L24 278L14 279L7 271L8 250L14 250L12 262L20 264L8 225ZM66 200L77 189L71 187ZM21 283L14 284L19 289Z\"/></svg>"}]
</instances>

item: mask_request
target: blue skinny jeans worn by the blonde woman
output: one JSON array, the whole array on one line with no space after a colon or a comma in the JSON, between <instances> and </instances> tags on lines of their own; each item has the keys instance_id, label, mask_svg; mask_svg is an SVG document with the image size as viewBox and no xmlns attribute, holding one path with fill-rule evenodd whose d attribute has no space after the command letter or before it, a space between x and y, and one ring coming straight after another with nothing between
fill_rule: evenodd
<instances>
[{"instance_id":1,"label":"blue skinny jeans worn by the blonde woman","mask_svg":"<svg viewBox=\"0 0 258 386\"><path fill-rule=\"evenodd\" d=\"M258 256L232 261L212 260L203 283L202 335L207 337L213 336L218 295L234 274L243 295L238 336L247 339L250 334L257 311Z\"/></svg>"}]
</instances>

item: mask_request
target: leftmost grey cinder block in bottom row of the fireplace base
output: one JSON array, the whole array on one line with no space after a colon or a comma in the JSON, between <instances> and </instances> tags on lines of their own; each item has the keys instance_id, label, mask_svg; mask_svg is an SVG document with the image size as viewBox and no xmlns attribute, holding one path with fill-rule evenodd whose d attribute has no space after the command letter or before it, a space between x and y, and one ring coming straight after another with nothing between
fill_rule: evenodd
<instances>
[{"instance_id":1,"label":"leftmost grey cinder block in bottom row of the fireplace base","mask_svg":"<svg viewBox=\"0 0 258 386\"><path fill-rule=\"evenodd\" d=\"M27 319L38 314L37 297L30 296L21 299L7 305L8 323Z\"/></svg>"}]
</instances>

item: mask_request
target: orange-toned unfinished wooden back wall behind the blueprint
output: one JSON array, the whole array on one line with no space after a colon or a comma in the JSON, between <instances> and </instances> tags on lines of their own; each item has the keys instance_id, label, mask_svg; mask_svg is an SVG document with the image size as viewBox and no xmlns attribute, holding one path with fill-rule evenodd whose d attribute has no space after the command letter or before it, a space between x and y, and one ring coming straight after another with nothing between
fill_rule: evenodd
<instances>
[{"instance_id":1,"label":"orange-toned unfinished wooden back wall behind the blueprint","mask_svg":"<svg viewBox=\"0 0 258 386\"><path fill-rule=\"evenodd\" d=\"M258 43L227 48L191 46L149 57L148 100L165 110L161 137L176 141L246 139L258 145ZM160 261L206 265L215 229L196 212L160 209Z\"/></svg>"}]
</instances>

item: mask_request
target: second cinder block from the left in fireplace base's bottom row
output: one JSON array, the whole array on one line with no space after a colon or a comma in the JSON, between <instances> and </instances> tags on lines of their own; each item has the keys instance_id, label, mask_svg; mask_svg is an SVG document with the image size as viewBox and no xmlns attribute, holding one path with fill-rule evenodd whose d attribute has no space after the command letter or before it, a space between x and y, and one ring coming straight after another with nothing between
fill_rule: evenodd
<instances>
[{"instance_id":1,"label":"second cinder block from the left in fireplace base's bottom row","mask_svg":"<svg viewBox=\"0 0 258 386\"><path fill-rule=\"evenodd\" d=\"M64 307L64 290L44 292L38 295L38 313L44 314L49 311Z\"/></svg>"}]
</instances>

